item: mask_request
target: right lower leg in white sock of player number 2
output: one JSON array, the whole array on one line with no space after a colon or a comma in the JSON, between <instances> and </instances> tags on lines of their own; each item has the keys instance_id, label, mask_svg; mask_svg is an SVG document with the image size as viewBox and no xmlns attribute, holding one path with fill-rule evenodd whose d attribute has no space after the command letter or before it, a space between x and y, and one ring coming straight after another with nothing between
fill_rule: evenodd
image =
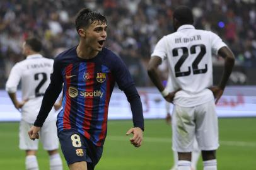
<instances>
[{"instance_id":1,"label":"right lower leg in white sock of player number 2","mask_svg":"<svg viewBox=\"0 0 256 170\"><path fill-rule=\"evenodd\" d=\"M62 161L58 150L48 150L47 152L50 156L50 170L62 170Z\"/></svg>"}]
</instances>

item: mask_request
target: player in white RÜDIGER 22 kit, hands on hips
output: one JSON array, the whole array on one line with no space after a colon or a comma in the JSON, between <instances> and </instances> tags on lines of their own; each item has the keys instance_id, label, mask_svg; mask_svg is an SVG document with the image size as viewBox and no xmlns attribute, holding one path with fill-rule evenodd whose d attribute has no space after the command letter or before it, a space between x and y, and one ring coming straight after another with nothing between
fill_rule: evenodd
<instances>
[{"instance_id":1,"label":"player in white R\u00dcDIGER 22 kit, hands on hips","mask_svg":"<svg viewBox=\"0 0 256 170\"><path fill-rule=\"evenodd\" d=\"M235 58L218 35L196 30L193 22L192 11L187 6L175 9L175 33L157 43L149 61L148 74L166 101L174 103L173 150L178 152L178 169L190 170L192 144L196 137L202 150L204 170L215 170L219 147L215 103L223 94ZM212 54L224 58L224 72L218 86L212 86ZM156 70L162 60L169 65L172 93L163 87L157 76Z\"/></svg>"}]
</instances>

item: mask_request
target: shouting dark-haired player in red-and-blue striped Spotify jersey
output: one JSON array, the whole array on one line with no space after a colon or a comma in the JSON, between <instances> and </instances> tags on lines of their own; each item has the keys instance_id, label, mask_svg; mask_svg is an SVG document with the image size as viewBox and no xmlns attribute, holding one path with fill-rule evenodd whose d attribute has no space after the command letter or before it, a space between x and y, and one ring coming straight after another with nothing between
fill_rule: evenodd
<instances>
[{"instance_id":1,"label":"shouting dark-haired player in red-and-blue striped Spotify jersey","mask_svg":"<svg viewBox=\"0 0 256 170\"><path fill-rule=\"evenodd\" d=\"M102 156L108 105L115 82L131 104L134 128L126 134L134 134L130 141L135 147L142 144L144 120L141 99L124 62L104 47L105 16L82 9L76 17L76 30L79 45L55 58L50 85L37 120L28 133L31 139L38 137L64 83L63 109L57 116L58 137L69 169L84 170L94 169Z\"/></svg>"}]
</instances>

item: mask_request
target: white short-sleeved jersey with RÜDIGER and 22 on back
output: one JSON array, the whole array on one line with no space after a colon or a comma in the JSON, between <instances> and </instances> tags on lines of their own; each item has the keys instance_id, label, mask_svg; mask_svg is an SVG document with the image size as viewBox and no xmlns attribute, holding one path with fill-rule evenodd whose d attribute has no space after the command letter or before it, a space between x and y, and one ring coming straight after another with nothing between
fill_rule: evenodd
<instances>
[{"instance_id":1,"label":"white short-sleeved jersey with R\u00dcDIGER and 22 on back","mask_svg":"<svg viewBox=\"0 0 256 170\"><path fill-rule=\"evenodd\" d=\"M226 44L215 33L196 30L192 25L182 25L177 32L167 35L156 44L151 57L167 60L175 94L175 105L190 107L213 99L212 54Z\"/></svg>"}]
</instances>

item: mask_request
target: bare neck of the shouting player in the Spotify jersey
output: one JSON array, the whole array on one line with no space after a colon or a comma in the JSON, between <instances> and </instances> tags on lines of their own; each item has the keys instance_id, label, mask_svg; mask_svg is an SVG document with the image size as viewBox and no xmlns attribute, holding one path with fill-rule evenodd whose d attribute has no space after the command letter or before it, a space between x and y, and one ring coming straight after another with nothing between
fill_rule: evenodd
<instances>
[{"instance_id":1,"label":"bare neck of the shouting player in the Spotify jersey","mask_svg":"<svg viewBox=\"0 0 256 170\"><path fill-rule=\"evenodd\" d=\"M95 51L90 47L86 47L86 45L83 45L83 43L79 42L79 45L76 48L76 53L81 59L92 59L98 54L98 51Z\"/></svg>"}]
</instances>

